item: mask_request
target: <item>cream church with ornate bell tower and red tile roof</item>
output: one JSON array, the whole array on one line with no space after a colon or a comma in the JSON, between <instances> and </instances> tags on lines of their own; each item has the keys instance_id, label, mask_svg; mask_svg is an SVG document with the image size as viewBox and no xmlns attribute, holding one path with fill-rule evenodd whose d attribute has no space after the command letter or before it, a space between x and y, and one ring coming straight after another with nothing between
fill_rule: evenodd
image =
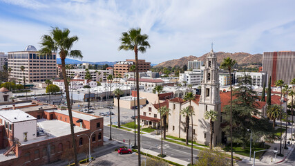
<instances>
[{"instance_id":1,"label":"cream church with ornate bell tower and red tile roof","mask_svg":"<svg viewBox=\"0 0 295 166\"><path fill-rule=\"evenodd\" d=\"M217 57L213 49L208 53L206 62L204 63L204 76L201 82L201 95L196 95L195 100L191 100L194 115L189 124L189 140L191 140L191 131L193 131L193 140L196 142L209 145L210 142L210 123L204 118L206 111L214 110L218 113L217 120L214 122L213 146L221 143L222 129L220 127L221 102L219 92L219 78ZM168 135L178 138L186 138L185 116L181 114L181 110L189 106L189 101L184 101L181 98L169 100L169 127ZM193 123L193 128L191 128Z\"/></svg>"}]
</instances>

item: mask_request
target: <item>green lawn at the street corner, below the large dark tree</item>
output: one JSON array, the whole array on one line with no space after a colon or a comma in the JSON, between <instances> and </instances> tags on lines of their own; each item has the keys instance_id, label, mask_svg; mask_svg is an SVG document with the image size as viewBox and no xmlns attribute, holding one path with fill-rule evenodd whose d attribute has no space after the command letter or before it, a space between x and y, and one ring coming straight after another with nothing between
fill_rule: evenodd
<instances>
[{"instance_id":1,"label":"green lawn at the street corner, below the large dark tree","mask_svg":"<svg viewBox=\"0 0 295 166\"><path fill-rule=\"evenodd\" d=\"M265 145L266 148L261 148L261 147L252 147L252 151L251 151L251 157L254 157L254 151L259 151L259 150L263 150L263 149L269 149L269 145ZM227 146L225 148L223 148L223 150L225 151L231 151L231 147ZM233 147L233 151L235 154L240 154L242 156L249 156L250 154L250 147L245 147L244 149L242 147ZM262 154L264 154L265 151L260 151L258 153L255 154L255 158L259 159L260 156Z\"/></svg>"}]
</instances>

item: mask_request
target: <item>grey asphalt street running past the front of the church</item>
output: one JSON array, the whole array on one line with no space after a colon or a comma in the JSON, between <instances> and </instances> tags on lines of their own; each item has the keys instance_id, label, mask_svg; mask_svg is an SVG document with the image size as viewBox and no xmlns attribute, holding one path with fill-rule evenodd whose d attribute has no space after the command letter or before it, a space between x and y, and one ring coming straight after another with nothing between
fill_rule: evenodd
<instances>
[{"instance_id":1,"label":"grey asphalt street running past the front of the church","mask_svg":"<svg viewBox=\"0 0 295 166\"><path fill-rule=\"evenodd\" d=\"M110 127L104 126L104 136L110 136ZM112 138L115 140L126 141L128 145L129 139L131 140L132 145L134 145L134 133L130 133L127 131L122 131L120 129L112 128ZM158 145L158 146L156 146ZM144 149L149 149L151 151L161 153L161 140L149 138L146 136L142 136L142 147ZM183 147L180 145L173 144L171 142L163 141L163 153L167 156L171 156L174 158L178 158L180 160L184 160L187 162L191 161L191 149L189 147ZM198 149L193 149L193 163L196 162L198 155Z\"/></svg>"}]
</instances>

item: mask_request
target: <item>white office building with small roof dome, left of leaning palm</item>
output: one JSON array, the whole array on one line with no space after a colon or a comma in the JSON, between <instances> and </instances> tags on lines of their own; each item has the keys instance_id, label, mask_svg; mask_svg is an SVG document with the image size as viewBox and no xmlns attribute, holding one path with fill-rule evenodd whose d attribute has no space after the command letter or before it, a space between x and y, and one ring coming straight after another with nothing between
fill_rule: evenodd
<instances>
[{"instance_id":1,"label":"white office building with small roof dome, left of leaning palm","mask_svg":"<svg viewBox=\"0 0 295 166\"><path fill-rule=\"evenodd\" d=\"M21 66L25 67L21 71ZM12 69L10 77L27 83L44 82L57 76L57 55L39 55L35 46L27 46L23 51L8 52L8 67Z\"/></svg>"}]
</instances>

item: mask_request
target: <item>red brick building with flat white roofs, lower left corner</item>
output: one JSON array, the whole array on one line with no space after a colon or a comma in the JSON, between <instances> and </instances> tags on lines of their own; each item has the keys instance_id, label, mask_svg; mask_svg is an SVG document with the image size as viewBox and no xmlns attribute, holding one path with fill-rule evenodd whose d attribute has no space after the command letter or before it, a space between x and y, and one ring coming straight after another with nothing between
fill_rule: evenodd
<instances>
[{"instance_id":1,"label":"red brick building with flat white roofs, lower left corner","mask_svg":"<svg viewBox=\"0 0 295 166\"><path fill-rule=\"evenodd\" d=\"M0 111L0 165L44 165L60 160L73 145L68 111L43 109L39 104L25 107L24 111L15 106ZM30 107L39 108L30 111ZM92 148L103 145L102 117L73 111L73 122L78 153L88 144L84 134L95 132Z\"/></svg>"}]
</instances>

